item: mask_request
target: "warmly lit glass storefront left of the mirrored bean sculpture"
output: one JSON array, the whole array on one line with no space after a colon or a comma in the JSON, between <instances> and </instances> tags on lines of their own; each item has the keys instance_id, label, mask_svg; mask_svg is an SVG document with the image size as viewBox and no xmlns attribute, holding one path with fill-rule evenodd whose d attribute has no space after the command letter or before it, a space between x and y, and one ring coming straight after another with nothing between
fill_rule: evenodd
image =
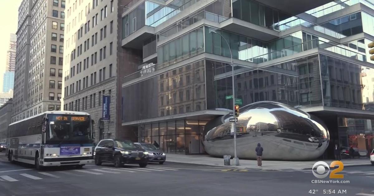
<instances>
[{"instance_id":1,"label":"warmly lit glass storefront left of the mirrored bean sculpture","mask_svg":"<svg viewBox=\"0 0 374 196\"><path fill-rule=\"evenodd\" d=\"M156 141L166 153L201 154L202 132L208 121L181 120L141 125L140 139L145 143Z\"/></svg>"}]
</instances>

